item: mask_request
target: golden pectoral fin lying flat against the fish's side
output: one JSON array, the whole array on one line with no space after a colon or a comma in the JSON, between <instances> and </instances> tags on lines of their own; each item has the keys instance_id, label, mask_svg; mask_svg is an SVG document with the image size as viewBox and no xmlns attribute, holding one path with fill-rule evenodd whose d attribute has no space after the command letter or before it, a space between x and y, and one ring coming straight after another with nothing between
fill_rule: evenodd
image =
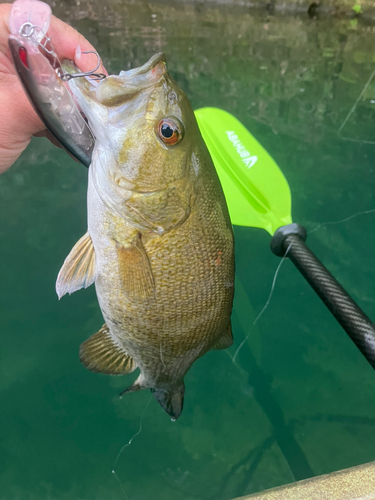
<instances>
[{"instance_id":1,"label":"golden pectoral fin lying flat against the fish's side","mask_svg":"<svg viewBox=\"0 0 375 500\"><path fill-rule=\"evenodd\" d=\"M125 294L142 299L154 298L155 281L141 233L126 247L117 243L117 257Z\"/></svg>"}]
</instances>

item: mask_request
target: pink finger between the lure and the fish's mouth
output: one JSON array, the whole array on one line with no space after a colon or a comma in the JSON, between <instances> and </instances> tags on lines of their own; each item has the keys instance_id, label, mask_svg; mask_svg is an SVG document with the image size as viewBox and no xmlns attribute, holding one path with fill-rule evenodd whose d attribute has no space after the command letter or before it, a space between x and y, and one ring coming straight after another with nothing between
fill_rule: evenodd
<instances>
[{"instance_id":1,"label":"pink finger between the lure and the fish's mouth","mask_svg":"<svg viewBox=\"0 0 375 500\"><path fill-rule=\"evenodd\" d=\"M78 33L77 30L68 24L60 21L55 16L51 17L51 24L48 29L48 36L51 38L52 45L60 60L70 59L74 61L81 71L90 71L97 65L97 58L95 54L83 54L81 59L75 58L77 45L81 47L81 51L95 50L86 38ZM97 70L100 73L108 75L103 64Z\"/></svg>"}]
</instances>

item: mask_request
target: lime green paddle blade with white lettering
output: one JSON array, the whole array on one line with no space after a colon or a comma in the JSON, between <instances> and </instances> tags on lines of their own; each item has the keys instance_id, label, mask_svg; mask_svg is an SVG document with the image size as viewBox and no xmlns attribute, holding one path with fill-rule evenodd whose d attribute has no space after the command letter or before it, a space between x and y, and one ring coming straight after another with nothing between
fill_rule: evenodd
<instances>
[{"instance_id":1,"label":"lime green paddle blade with white lettering","mask_svg":"<svg viewBox=\"0 0 375 500\"><path fill-rule=\"evenodd\" d=\"M291 224L289 185L267 151L233 115L218 108L195 111L228 204L232 224L271 235Z\"/></svg>"}]
</instances>

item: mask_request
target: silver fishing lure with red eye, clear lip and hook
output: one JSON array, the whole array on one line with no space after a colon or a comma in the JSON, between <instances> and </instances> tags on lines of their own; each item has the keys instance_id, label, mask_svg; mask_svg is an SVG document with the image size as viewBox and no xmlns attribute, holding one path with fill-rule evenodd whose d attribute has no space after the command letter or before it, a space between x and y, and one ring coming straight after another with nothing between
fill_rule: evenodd
<instances>
[{"instance_id":1,"label":"silver fishing lure with red eye, clear lip and hook","mask_svg":"<svg viewBox=\"0 0 375 500\"><path fill-rule=\"evenodd\" d=\"M75 158L89 167L95 137L65 82L81 77L100 80L105 75L96 73L100 57L95 51L82 52L97 56L97 66L92 71L64 71L47 36L50 18L51 8L44 2L16 0L9 20L10 53L23 88L40 119ZM79 47L77 52L80 55Z\"/></svg>"}]
</instances>

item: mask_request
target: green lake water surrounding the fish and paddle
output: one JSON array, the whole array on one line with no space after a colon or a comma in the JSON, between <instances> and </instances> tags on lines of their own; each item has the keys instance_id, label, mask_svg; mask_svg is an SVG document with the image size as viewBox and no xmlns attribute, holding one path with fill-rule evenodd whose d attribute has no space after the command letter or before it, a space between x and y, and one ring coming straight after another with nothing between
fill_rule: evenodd
<instances>
[{"instance_id":1,"label":"green lake water surrounding the fish and paddle","mask_svg":"<svg viewBox=\"0 0 375 500\"><path fill-rule=\"evenodd\" d=\"M337 135L374 69L365 21L179 2L54 12L110 72L165 51L195 108L235 114L274 157L308 230L375 208L375 146L363 142L375 140L375 81L342 131L355 141ZM147 391L118 399L132 376L86 371L79 345L102 325L94 288L61 302L54 291L86 231L86 184L42 139L0 179L1 500L229 500L375 460L374 371L290 262L251 328L279 264L259 229L235 228L235 345L193 365L177 422ZM372 319L374 225L369 213L308 237Z\"/></svg>"}]
</instances>

